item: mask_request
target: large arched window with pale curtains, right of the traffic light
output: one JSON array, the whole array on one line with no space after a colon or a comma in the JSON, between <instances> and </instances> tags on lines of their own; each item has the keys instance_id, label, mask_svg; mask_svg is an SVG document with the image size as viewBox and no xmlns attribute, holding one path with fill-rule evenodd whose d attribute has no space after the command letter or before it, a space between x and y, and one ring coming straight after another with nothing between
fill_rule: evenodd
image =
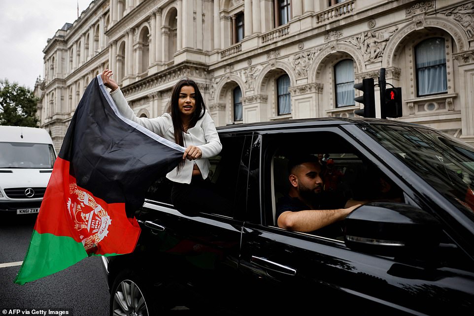
<instances>
[{"instance_id":1,"label":"large arched window with pale curtains, right of the traffic light","mask_svg":"<svg viewBox=\"0 0 474 316\"><path fill-rule=\"evenodd\" d=\"M429 38L415 47L417 95L447 92L444 38Z\"/></svg>"}]
</instances>

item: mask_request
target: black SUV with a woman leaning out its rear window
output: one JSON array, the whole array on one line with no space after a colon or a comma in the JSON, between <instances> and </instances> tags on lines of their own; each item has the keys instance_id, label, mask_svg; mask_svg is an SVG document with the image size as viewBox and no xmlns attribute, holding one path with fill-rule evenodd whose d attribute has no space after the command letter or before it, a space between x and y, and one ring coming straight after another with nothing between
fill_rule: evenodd
<instances>
[{"instance_id":1,"label":"black SUV with a woman leaning out its rear window","mask_svg":"<svg viewBox=\"0 0 474 316\"><path fill-rule=\"evenodd\" d=\"M103 257L110 315L474 315L473 147L377 119L218 132L210 180L234 209L181 213L169 181L157 179L136 213L135 252ZM355 209L339 236L279 228L288 157L300 151L332 160L340 179L327 188L345 197L375 199L374 179L384 177L398 199Z\"/></svg>"}]
</instances>

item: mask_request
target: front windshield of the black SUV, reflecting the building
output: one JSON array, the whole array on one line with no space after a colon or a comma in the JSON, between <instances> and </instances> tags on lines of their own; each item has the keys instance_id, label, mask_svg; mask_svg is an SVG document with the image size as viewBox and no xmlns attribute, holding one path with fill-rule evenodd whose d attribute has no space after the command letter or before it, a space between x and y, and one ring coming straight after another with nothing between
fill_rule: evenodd
<instances>
[{"instance_id":1,"label":"front windshield of the black SUV, reflecting the building","mask_svg":"<svg viewBox=\"0 0 474 316\"><path fill-rule=\"evenodd\" d=\"M368 130L444 197L474 216L474 147L427 128L372 125Z\"/></svg>"}]
</instances>

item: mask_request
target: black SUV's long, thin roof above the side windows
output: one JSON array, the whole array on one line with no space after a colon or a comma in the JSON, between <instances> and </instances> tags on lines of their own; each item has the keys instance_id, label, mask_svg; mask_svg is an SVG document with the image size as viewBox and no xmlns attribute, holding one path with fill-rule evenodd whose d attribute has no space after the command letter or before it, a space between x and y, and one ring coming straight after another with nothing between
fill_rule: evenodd
<instances>
[{"instance_id":1,"label":"black SUV's long, thin roof above the side windows","mask_svg":"<svg viewBox=\"0 0 474 316\"><path fill-rule=\"evenodd\" d=\"M410 126L416 128L432 129L427 126L421 126L413 123L406 123L396 120L386 119L368 119L368 118L339 118L339 117L327 117L327 118L312 118L312 119L297 119L297 120L282 120L282 121L267 121L267 122L256 122L256 123L245 123L245 124L231 124L226 126L216 127L219 132L227 131L249 131L249 130L271 130L271 129L282 129L282 128L304 128L304 127L315 127L315 126L339 126L339 125L356 125L356 126L369 126L369 125L387 125L387 126Z\"/></svg>"}]
</instances>

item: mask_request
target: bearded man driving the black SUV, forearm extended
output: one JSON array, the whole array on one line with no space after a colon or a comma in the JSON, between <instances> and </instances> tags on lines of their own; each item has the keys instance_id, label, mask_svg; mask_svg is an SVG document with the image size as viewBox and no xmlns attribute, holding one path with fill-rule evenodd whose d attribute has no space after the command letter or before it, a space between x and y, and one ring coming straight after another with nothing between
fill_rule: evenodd
<instances>
[{"instance_id":1,"label":"bearded man driving the black SUV, forearm extended","mask_svg":"<svg viewBox=\"0 0 474 316\"><path fill-rule=\"evenodd\" d=\"M364 202L347 200L336 192L323 191L321 165L314 156L293 158L288 163L290 190L276 206L278 227L322 235L342 235L339 225L331 225Z\"/></svg>"}]
</instances>

